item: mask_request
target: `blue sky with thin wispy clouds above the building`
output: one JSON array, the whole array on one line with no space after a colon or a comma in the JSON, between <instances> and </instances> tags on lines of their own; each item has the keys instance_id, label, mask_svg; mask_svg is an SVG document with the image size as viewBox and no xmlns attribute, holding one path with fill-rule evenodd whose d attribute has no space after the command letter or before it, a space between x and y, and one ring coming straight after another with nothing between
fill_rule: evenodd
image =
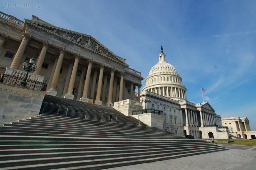
<instances>
[{"instance_id":1,"label":"blue sky with thin wispy clouds above the building","mask_svg":"<svg viewBox=\"0 0 256 170\"><path fill-rule=\"evenodd\" d=\"M21 20L35 15L92 35L144 78L162 45L189 101L202 102L203 87L204 101L217 114L247 117L256 131L256 1L8 0L0 5Z\"/></svg>"}]
</instances>

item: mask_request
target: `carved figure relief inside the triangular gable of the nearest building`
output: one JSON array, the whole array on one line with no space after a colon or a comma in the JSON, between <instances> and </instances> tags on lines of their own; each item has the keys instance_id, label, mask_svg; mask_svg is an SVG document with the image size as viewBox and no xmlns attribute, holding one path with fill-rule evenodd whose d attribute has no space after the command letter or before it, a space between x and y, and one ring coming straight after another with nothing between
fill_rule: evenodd
<instances>
[{"instance_id":1,"label":"carved figure relief inside the triangular gable of the nearest building","mask_svg":"<svg viewBox=\"0 0 256 170\"><path fill-rule=\"evenodd\" d=\"M27 24L28 24L28 22L27 22ZM78 33L68 32L65 30L60 30L60 29L53 28L50 26L44 26L44 25L36 25L35 26L35 24L36 23L29 23L29 25L31 25L31 27L34 26L38 29L43 28L45 31L49 32L49 34L54 36L54 38L56 38L59 41L64 41L67 44L76 45L78 47L81 46L82 48L80 48L80 49L86 48L86 49L92 50L93 52L97 52L97 53L107 57L109 60L127 65L121 59L119 59L117 56L113 55L105 47L103 47L100 43L98 43L91 37L81 35ZM42 32L42 30L40 30L40 32Z\"/></svg>"}]
</instances>

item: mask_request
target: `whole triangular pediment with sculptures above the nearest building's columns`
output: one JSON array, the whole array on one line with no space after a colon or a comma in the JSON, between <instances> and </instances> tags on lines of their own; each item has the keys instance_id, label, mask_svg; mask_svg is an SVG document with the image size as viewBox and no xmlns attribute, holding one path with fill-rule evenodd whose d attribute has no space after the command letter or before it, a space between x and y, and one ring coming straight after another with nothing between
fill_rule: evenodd
<instances>
[{"instance_id":1,"label":"whole triangular pediment with sculptures above the nearest building's columns","mask_svg":"<svg viewBox=\"0 0 256 170\"><path fill-rule=\"evenodd\" d=\"M56 26L53 26L46 22L37 22L37 21L33 21L33 20L28 20L28 19L25 19L24 24L26 24L26 25L30 24L32 26L35 26L36 28L44 30L45 32L54 34L55 36L59 37L61 40L68 41L70 44L75 44L84 49L93 51L94 53L97 53L98 55L104 56L108 60L112 60L117 63L121 63L122 65L125 65L126 67L129 67L129 65L125 62L124 58L121 58L121 57L115 55L108 48L103 46L99 41L97 41L95 38L93 38L91 35L78 33L75 31L70 31L67 29L56 27Z\"/></svg>"}]
</instances>

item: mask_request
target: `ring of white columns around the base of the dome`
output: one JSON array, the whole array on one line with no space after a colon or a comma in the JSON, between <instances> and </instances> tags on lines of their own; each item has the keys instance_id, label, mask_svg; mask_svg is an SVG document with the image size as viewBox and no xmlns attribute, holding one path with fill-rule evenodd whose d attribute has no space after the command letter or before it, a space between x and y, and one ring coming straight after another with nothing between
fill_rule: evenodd
<instances>
[{"instance_id":1,"label":"ring of white columns around the base of the dome","mask_svg":"<svg viewBox=\"0 0 256 170\"><path fill-rule=\"evenodd\" d=\"M157 94L159 94L159 95L163 94L163 96L166 96L166 97L179 97L179 98L182 98L182 99L185 99L185 100L187 99L186 91L182 88L179 88L179 87L169 87L169 86L154 87L154 88L150 88L148 90L150 92L154 92L154 93L157 93L157 91L158 91ZM165 90L166 90L166 95L165 95Z\"/></svg>"}]
</instances>

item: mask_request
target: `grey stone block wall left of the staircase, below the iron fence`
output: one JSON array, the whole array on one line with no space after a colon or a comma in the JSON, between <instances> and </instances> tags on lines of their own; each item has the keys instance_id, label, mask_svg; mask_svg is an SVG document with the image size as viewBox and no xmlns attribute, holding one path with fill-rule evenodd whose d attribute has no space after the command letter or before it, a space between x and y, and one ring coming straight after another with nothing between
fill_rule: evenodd
<instances>
[{"instance_id":1,"label":"grey stone block wall left of the staircase, below the iron fence","mask_svg":"<svg viewBox=\"0 0 256 170\"><path fill-rule=\"evenodd\" d=\"M0 125L39 114L46 92L0 84Z\"/></svg>"}]
</instances>

